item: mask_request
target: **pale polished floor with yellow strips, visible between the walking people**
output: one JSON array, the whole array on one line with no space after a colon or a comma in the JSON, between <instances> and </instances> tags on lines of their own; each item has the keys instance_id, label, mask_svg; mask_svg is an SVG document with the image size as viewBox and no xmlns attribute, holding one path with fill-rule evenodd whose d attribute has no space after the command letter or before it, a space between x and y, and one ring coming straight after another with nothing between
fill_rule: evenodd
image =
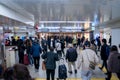
<instances>
[{"instance_id":1,"label":"pale polished floor with yellow strips, visible between the walking people","mask_svg":"<svg viewBox=\"0 0 120 80\"><path fill-rule=\"evenodd\" d=\"M80 51L81 50L77 49L78 54L80 54ZM65 49L65 52L66 52L66 49ZM98 53L98 55L99 55L99 53ZM42 59L40 59L39 72L35 72L34 66L31 66L31 65L28 66L28 69L30 71L31 76L33 78L36 78L36 80L46 80L46 71L42 70L41 64L42 64ZM55 70L55 78L57 79L58 78L59 61L56 64L57 64L57 66L56 66L56 70ZM66 61L64 61L64 64L68 68ZM77 64L77 61L76 61L76 64ZM98 68L99 66L101 66L101 64L96 66L96 69L94 70L94 73L93 73L93 76L92 76L91 80L105 80L105 77L106 77L106 75L104 74L105 73L105 69L103 69L103 71L101 71ZM74 74L74 73L73 74L69 74L69 73L67 73L67 75L68 75L67 80L81 80L81 70L80 69L77 70L77 74ZM112 79L111 80L118 80L115 74L112 75Z\"/></svg>"}]
</instances>

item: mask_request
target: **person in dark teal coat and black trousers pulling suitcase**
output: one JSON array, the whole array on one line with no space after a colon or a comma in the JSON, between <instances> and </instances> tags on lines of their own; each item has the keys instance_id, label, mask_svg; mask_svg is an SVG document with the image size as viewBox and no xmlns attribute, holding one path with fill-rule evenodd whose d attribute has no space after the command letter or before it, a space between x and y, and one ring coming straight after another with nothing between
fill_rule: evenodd
<instances>
[{"instance_id":1,"label":"person in dark teal coat and black trousers pulling suitcase","mask_svg":"<svg viewBox=\"0 0 120 80\"><path fill-rule=\"evenodd\" d=\"M47 80L50 80L50 75L51 75L51 80L54 80L56 61L59 60L58 54L54 53L53 47L50 47L50 52L43 53L42 58L44 59L45 64L46 64Z\"/></svg>"}]
</instances>

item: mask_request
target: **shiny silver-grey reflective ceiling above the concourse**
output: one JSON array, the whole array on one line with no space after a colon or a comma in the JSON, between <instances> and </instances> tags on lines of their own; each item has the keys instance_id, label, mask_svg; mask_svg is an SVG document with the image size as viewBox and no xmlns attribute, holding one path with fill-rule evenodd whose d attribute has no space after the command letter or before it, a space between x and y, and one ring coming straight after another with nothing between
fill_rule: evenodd
<instances>
[{"instance_id":1,"label":"shiny silver-grey reflective ceiling above the concourse","mask_svg":"<svg viewBox=\"0 0 120 80\"><path fill-rule=\"evenodd\" d=\"M95 14L100 20L106 15L110 18L111 9L120 7L120 0L0 0L3 1L21 14L24 11L33 15L35 22L94 21Z\"/></svg>"}]
</instances>

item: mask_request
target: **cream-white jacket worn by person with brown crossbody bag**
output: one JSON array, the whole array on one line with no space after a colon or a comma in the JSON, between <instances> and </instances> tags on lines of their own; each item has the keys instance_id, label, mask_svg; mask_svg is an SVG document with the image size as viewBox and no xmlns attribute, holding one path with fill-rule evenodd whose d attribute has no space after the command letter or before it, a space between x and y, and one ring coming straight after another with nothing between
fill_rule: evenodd
<instances>
[{"instance_id":1,"label":"cream-white jacket worn by person with brown crossbody bag","mask_svg":"<svg viewBox=\"0 0 120 80\"><path fill-rule=\"evenodd\" d=\"M78 57L78 66L82 67L82 70L90 70L89 61L95 61L95 63L97 64L99 63L99 59L96 53L92 49L85 49L81 52L81 54Z\"/></svg>"}]
</instances>

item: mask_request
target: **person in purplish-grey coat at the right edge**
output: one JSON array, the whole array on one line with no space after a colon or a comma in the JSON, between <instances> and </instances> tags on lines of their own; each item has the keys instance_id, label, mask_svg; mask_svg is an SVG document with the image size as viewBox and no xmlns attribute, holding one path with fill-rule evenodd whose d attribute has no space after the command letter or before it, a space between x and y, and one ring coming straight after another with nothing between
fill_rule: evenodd
<instances>
[{"instance_id":1,"label":"person in purplish-grey coat at the right edge","mask_svg":"<svg viewBox=\"0 0 120 80\"><path fill-rule=\"evenodd\" d=\"M116 73L120 80L120 53L118 52L116 45L111 47L107 65L109 72L107 80L111 79L111 73Z\"/></svg>"}]
</instances>

